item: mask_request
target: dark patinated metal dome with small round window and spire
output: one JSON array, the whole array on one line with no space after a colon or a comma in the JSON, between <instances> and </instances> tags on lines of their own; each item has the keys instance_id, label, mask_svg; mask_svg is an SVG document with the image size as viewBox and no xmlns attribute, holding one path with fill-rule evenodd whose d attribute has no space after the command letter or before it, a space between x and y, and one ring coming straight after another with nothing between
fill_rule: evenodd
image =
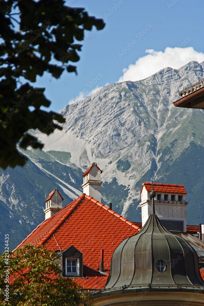
<instances>
[{"instance_id":1,"label":"dark patinated metal dome with small round window and spire","mask_svg":"<svg viewBox=\"0 0 204 306\"><path fill-rule=\"evenodd\" d=\"M152 213L139 233L122 241L114 251L105 288L203 285L194 248L166 230Z\"/></svg>"}]
</instances>

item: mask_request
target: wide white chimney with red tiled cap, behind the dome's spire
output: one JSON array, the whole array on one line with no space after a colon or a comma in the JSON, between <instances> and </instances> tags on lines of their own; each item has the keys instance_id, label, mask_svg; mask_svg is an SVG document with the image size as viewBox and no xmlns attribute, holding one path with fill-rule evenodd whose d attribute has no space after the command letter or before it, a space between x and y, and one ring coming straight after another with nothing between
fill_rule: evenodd
<instances>
[{"instance_id":1,"label":"wide white chimney with red tiled cap, behind the dome's spire","mask_svg":"<svg viewBox=\"0 0 204 306\"><path fill-rule=\"evenodd\" d=\"M156 197L155 213L167 228L172 231L186 232L186 190L184 185L153 183ZM142 226L151 214L150 191L152 183L143 183L141 190Z\"/></svg>"}]
</instances>

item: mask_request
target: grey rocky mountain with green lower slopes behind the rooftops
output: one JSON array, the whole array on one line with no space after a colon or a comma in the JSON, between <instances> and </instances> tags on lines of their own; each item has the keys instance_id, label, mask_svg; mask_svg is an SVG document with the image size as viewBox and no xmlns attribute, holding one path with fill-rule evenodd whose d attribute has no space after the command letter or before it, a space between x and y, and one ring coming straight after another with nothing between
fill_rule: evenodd
<instances>
[{"instance_id":1,"label":"grey rocky mountain with green lower slopes behind the rooftops","mask_svg":"<svg viewBox=\"0 0 204 306\"><path fill-rule=\"evenodd\" d=\"M1 235L15 247L44 219L44 200L57 188L63 204L82 193L84 169L97 162L102 173L102 203L130 221L141 221L142 181L183 184L187 223L204 223L202 188L203 110L175 107L178 91L203 78L204 62L165 68L141 81L110 84L67 105L63 132L47 137L43 151L30 148L23 168L2 171ZM142 177L142 178L141 178ZM3 238L2 238L3 241Z\"/></svg>"}]
</instances>

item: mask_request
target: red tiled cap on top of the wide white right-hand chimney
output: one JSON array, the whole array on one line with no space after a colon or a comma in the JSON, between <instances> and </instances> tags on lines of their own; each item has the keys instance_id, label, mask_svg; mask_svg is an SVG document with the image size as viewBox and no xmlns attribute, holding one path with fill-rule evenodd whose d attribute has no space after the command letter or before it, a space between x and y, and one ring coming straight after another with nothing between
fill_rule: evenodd
<instances>
[{"instance_id":1,"label":"red tiled cap on top of the wide white right-hand chimney","mask_svg":"<svg viewBox=\"0 0 204 306\"><path fill-rule=\"evenodd\" d=\"M143 183L140 194L142 193L143 187L150 192L152 190L152 183ZM156 192L186 193L184 185L153 183L153 187Z\"/></svg>"}]
</instances>

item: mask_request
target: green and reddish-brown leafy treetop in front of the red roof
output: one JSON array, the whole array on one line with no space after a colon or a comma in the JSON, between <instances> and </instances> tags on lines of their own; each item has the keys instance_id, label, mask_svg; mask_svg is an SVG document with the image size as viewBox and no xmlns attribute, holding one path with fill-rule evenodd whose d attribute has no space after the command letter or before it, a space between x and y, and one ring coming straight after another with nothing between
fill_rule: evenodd
<instances>
[{"instance_id":1,"label":"green and reddish-brown leafy treetop in front of the red roof","mask_svg":"<svg viewBox=\"0 0 204 306\"><path fill-rule=\"evenodd\" d=\"M13 255L10 252L8 261L5 254L8 253L0 257L0 305L5 303L5 298L9 306L71 306L89 300L89 292L83 292L71 278L59 276L57 253L42 245L28 244ZM9 283L5 283L5 266L10 266Z\"/></svg>"}]
</instances>

